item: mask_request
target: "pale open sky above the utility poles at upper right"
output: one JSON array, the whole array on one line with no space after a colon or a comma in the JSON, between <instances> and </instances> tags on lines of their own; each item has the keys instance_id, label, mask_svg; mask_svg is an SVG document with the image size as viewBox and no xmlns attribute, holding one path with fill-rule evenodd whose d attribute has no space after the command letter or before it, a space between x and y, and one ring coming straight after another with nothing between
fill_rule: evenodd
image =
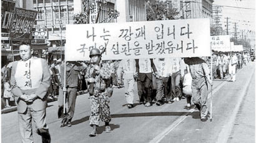
<instances>
[{"instance_id":1,"label":"pale open sky above the utility poles at upper right","mask_svg":"<svg viewBox=\"0 0 256 143\"><path fill-rule=\"evenodd\" d=\"M234 22L237 22L237 29L240 30L253 30L255 32L255 0L214 0L213 4L222 5L222 26L226 25L229 17L230 31L234 31ZM234 7L225 7L234 6ZM245 7L250 9L239 9L235 7ZM225 29L225 27L224 27Z\"/></svg>"}]
</instances>

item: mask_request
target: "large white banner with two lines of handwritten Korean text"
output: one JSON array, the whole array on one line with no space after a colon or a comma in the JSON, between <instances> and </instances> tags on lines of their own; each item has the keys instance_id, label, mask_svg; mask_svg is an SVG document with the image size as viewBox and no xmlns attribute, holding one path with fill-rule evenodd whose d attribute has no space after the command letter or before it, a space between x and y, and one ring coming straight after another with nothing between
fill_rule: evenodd
<instances>
[{"instance_id":1,"label":"large white banner with two lines of handwritten Korean text","mask_svg":"<svg viewBox=\"0 0 256 143\"><path fill-rule=\"evenodd\" d=\"M209 19L77 24L66 26L67 61L89 60L106 47L103 60L210 56Z\"/></svg>"}]
</instances>

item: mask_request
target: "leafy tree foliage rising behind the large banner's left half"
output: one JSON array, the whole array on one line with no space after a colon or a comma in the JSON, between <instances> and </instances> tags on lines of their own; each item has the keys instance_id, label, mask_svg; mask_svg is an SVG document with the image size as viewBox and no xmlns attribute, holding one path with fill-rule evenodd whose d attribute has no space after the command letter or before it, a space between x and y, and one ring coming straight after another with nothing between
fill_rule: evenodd
<instances>
[{"instance_id":1,"label":"leafy tree foliage rising behind the large banner's left half","mask_svg":"<svg viewBox=\"0 0 256 143\"><path fill-rule=\"evenodd\" d=\"M111 19L116 19L119 16L119 12L115 9L109 9L108 17L104 17L103 21L99 21L100 11L105 4L107 4L106 0L82 0L84 8L80 14L74 14L74 24L89 24L91 14L97 14L95 23L109 22ZM95 13L96 5L98 6L97 13Z\"/></svg>"}]
</instances>

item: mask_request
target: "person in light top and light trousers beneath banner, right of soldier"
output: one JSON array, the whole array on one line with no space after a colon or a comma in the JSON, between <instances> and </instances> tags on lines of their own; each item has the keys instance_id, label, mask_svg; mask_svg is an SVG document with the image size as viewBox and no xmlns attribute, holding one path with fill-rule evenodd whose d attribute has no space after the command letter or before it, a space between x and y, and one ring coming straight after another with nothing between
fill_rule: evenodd
<instances>
[{"instance_id":1,"label":"person in light top and light trousers beneath banner, right of soldier","mask_svg":"<svg viewBox=\"0 0 256 143\"><path fill-rule=\"evenodd\" d=\"M124 59L119 63L117 68L117 83L121 85L123 78L124 81L124 93L127 101L127 108L133 108L134 104L134 85L135 78L137 78L135 60L134 59Z\"/></svg>"}]
</instances>

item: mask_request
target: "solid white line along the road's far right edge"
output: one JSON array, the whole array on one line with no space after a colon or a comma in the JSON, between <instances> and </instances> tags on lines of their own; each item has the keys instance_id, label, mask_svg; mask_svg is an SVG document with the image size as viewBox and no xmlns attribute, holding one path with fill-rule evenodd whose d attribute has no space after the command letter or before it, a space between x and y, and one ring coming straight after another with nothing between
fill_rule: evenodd
<instances>
[{"instance_id":1,"label":"solid white line along the road's far right edge","mask_svg":"<svg viewBox=\"0 0 256 143\"><path fill-rule=\"evenodd\" d=\"M235 122L235 117L237 116L237 113L239 112L239 108L242 104L244 96L247 93L247 89L249 88L249 84L250 84L250 81L252 80L253 75L254 75L254 71L250 75L250 78L249 78L250 80L247 80L247 82L245 83L244 88L242 89L242 95L239 96L238 104L235 106L235 109L232 113L232 116L230 117L230 120L228 120L228 122L225 124L222 131L220 131L220 134L219 134L218 139L217 139L217 143L226 143L228 141L230 133L231 133L232 128L233 128L233 125L234 125L234 122Z\"/></svg>"}]
</instances>

